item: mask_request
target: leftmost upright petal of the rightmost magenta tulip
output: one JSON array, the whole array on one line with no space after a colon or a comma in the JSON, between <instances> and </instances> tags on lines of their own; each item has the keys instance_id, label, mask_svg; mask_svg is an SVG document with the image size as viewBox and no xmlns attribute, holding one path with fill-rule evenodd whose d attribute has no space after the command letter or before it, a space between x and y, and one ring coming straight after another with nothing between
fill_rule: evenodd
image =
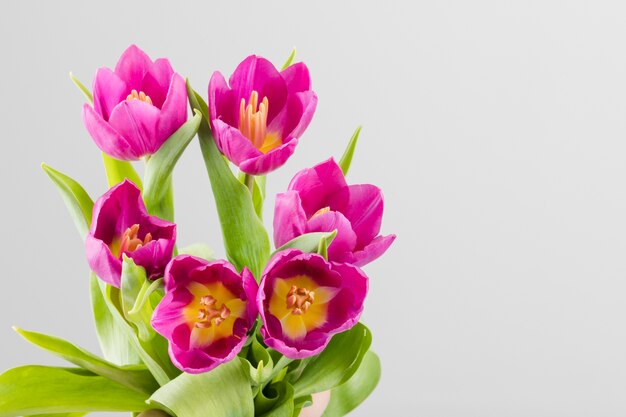
<instances>
[{"instance_id":1,"label":"leftmost upright petal of the rightmost magenta tulip","mask_svg":"<svg viewBox=\"0 0 626 417\"><path fill-rule=\"evenodd\" d=\"M278 194L274 209L274 245L278 248L306 233L306 220L297 192Z\"/></svg>"}]
</instances>

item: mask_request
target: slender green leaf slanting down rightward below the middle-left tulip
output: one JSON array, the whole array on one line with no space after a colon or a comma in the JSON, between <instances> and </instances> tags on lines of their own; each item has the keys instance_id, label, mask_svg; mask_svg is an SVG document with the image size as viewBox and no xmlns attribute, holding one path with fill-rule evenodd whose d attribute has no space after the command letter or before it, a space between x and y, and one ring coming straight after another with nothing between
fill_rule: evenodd
<instances>
[{"instance_id":1,"label":"slender green leaf slanting down rightward below the middle-left tulip","mask_svg":"<svg viewBox=\"0 0 626 417\"><path fill-rule=\"evenodd\" d=\"M137 352L141 361L146 364L159 385L167 384L172 377L180 373L169 360L167 341L160 335L156 335L150 342L140 340L135 329L131 327L123 316L120 290L102 281L99 281L98 284L117 327L124 332L131 346Z\"/></svg>"}]
</instances>

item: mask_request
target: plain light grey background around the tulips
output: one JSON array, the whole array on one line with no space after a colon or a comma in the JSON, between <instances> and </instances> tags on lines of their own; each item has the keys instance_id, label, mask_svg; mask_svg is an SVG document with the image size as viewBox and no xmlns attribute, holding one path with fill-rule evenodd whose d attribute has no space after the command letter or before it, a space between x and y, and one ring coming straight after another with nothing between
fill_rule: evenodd
<instances>
[{"instance_id":1,"label":"plain light grey background around the tulips","mask_svg":"<svg viewBox=\"0 0 626 417\"><path fill-rule=\"evenodd\" d=\"M206 95L292 47L319 106L273 194L339 156L398 239L366 267L384 376L355 416L626 414L626 10L604 1L0 4L0 369L60 364L10 329L97 350L81 240L45 161L97 197L86 84L130 43ZM181 244L222 243L197 143L175 171Z\"/></svg>"}]
</instances>

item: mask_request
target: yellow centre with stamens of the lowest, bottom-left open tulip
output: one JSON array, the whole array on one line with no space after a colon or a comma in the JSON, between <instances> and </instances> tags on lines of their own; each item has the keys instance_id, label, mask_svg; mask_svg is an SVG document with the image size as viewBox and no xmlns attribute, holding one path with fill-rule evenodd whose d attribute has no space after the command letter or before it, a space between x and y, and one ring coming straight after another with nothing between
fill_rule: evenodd
<instances>
[{"instance_id":1,"label":"yellow centre with stamens of the lowest, bottom-left open tulip","mask_svg":"<svg viewBox=\"0 0 626 417\"><path fill-rule=\"evenodd\" d=\"M191 329L191 345L202 348L232 336L235 321L246 312L245 301L220 282L194 281L187 290L193 300L184 308L183 315Z\"/></svg>"}]
</instances>

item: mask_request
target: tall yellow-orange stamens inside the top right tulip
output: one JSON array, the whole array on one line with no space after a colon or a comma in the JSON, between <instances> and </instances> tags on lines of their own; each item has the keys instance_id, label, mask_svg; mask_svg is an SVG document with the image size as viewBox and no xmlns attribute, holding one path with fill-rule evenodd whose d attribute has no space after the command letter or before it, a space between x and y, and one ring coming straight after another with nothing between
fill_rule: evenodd
<instances>
[{"instance_id":1,"label":"tall yellow-orange stamens inside the top right tulip","mask_svg":"<svg viewBox=\"0 0 626 417\"><path fill-rule=\"evenodd\" d=\"M247 104L244 98L239 104L239 131L263 153L268 153L282 144L277 134L267 132L269 106L267 97L263 97L259 103L257 91L252 91Z\"/></svg>"}]
</instances>

